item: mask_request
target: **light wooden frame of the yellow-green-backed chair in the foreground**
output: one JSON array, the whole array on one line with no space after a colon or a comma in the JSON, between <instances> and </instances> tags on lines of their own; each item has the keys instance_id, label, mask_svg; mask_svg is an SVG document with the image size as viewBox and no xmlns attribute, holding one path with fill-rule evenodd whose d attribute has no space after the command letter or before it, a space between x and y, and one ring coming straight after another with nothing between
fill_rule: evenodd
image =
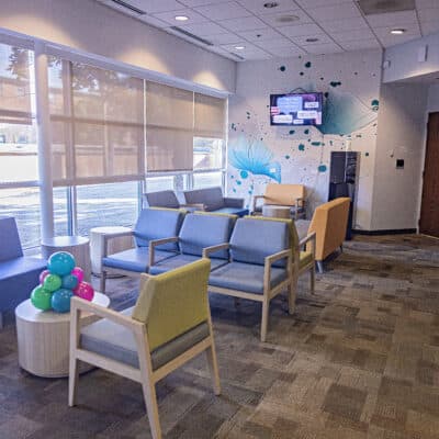
<instances>
[{"instance_id":1,"label":"light wooden frame of the yellow-green-backed chair in the foreground","mask_svg":"<svg viewBox=\"0 0 439 439\"><path fill-rule=\"evenodd\" d=\"M82 312L94 314L101 318L108 318L115 324L122 325L125 328L130 329L134 334L136 340L139 369L82 349L79 346L81 328L80 316ZM97 365L98 368L108 370L117 375L125 376L142 384L153 439L161 439L161 428L156 396L156 383L172 371L175 371L180 365L199 356L203 351L206 352L214 393L215 395L221 394L219 373L217 367L215 342L213 338L212 318L209 307L209 301L207 324L210 335L204 340L198 342L195 346L181 353L173 360L169 361L168 363L161 365L157 370L153 370L146 325L144 325L143 323L120 314L115 311L87 302L79 297L72 297L70 313L70 360L68 389L68 404L70 407L75 406L77 403L79 380L78 361L86 361L89 364Z\"/></svg>"}]
</instances>

